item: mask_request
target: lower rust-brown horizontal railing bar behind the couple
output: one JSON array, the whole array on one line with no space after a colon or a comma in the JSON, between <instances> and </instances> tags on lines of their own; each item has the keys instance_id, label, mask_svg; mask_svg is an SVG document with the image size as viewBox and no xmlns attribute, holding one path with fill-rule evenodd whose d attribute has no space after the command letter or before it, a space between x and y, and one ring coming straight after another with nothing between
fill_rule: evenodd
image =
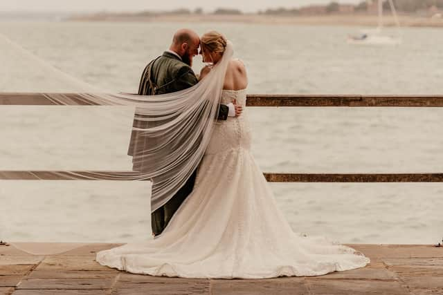
<instances>
[{"instance_id":1,"label":"lower rust-brown horizontal railing bar behind the couple","mask_svg":"<svg viewBox=\"0 0 443 295\"><path fill-rule=\"evenodd\" d=\"M130 180L127 171L0 171L0 180ZM268 182L443 182L443 173L264 173ZM93 178L93 179L91 179Z\"/></svg>"}]
</instances>

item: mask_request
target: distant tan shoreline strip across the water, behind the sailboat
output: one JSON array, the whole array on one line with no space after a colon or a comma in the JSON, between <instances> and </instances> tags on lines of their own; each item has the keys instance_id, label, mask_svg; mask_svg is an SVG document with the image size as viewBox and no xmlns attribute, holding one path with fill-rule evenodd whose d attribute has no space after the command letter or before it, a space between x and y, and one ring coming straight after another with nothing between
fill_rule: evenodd
<instances>
[{"instance_id":1,"label":"distant tan shoreline strip across the water, behind the sailboat","mask_svg":"<svg viewBox=\"0 0 443 295\"><path fill-rule=\"evenodd\" d=\"M67 21L145 21L145 22L234 22L261 24L293 24L293 25L336 25L336 26L377 26L377 15L312 15L312 16L278 16L278 15L118 15L97 14L70 17ZM399 21L404 27L442 28L443 18L418 17L400 15ZM383 17L385 26L395 26L390 15Z\"/></svg>"}]
</instances>

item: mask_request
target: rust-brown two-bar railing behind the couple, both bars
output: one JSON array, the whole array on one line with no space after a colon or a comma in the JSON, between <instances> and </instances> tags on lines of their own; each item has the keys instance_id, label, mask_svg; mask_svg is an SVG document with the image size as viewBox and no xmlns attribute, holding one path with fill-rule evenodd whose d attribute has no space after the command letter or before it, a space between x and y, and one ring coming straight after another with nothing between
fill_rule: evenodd
<instances>
[{"instance_id":1,"label":"rust-brown two-bar railing behind the couple, both bars","mask_svg":"<svg viewBox=\"0 0 443 295\"><path fill-rule=\"evenodd\" d=\"M56 99L52 99L55 97ZM96 106L76 93L0 93L1 105ZM263 107L443 107L443 95L248 95ZM91 173L92 172L92 173ZM0 180L117 180L132 171L0 171ZM100 175L100 176L98 176ZM443 182L443 173L264 173L269 182Z\"/></svg>"}]
</instances>

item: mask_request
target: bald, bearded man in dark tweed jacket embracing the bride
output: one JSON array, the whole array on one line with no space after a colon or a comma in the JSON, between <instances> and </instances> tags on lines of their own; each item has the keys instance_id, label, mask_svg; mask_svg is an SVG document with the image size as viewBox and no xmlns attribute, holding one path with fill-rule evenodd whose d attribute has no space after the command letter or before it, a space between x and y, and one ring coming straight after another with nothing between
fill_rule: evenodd
<instances>
[{"instance_id":1,"label":"bald, bearded man in dark tweed jacket embracing the bride","mask_svg":"<svg viewBox=\"0 0 443 295\"><path fill-rule=\"evenodd\" d=\"M174 34L169 50L163 55L147 64L141 76L138 87L138 95L160 95L173 93L190 88L198 83L195 73L192 71L192 59L199 54L200 38L196 32L188 29L178 30ZM226 120L228 116L234 117L242 113L242 107L235 104L219 106L218 120ZM143 122L134 121L134 126L140 126ZM129 155L134 155L134 137L132 133ZM133 170L138 171L134 166ZM194 171L186 184L162 207L156 209L151 215L152 234L157 236L165 229L175 211L191 193L197 171Z\"/></svg>"}]
</instances>

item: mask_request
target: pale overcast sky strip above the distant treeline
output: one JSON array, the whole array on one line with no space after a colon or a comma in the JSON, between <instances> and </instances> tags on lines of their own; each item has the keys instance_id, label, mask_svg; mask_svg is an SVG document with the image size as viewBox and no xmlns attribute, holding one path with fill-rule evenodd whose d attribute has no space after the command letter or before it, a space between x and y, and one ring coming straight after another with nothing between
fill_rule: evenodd
<instances>
[{"instance_id":1,"label":"pale overcast sky strip above the distant treeline","mask_svg":"<svg viewBox=\"0 0 443 295\"><path fill-rule=\"evenodd\" d=\"M195 9L201 7L211 11L215 8L237 8L253 12L266 8L293 8L307 4L329 3L331 0L0 0L0 11L136 11L172 10L174 8ZM361 0L338 0L340 3L359 3ZM253 3L253 4L251 4Z\"/></svg>"}]
</instances>

